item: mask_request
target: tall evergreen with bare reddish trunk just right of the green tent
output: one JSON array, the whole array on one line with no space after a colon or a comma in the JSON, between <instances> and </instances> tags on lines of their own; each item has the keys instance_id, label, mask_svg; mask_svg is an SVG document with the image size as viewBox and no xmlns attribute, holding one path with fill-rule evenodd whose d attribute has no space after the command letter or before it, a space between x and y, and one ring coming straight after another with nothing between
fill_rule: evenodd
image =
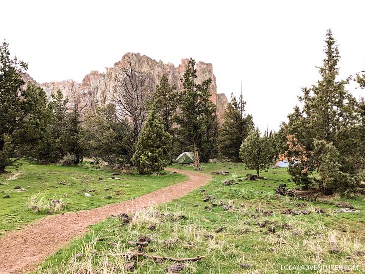
<instances>
[{"instance_id":1,"label":"tall evergreen with bare reddish trunk just right of the green tent","mask_svg":"<svg viewBox=\"0 0 365 274\"><path fill-rule=\"evenodd\" d=\"M199 144L207 130L208 122L216 118L216 106L210 100L209 86L212 79L209 78L196 83L197 70L195 60L190 59L187 71L181 79L183 89L179 92L179 108L175 116L178 125L178 135L193 146L195 166L200 167Z\"/></svg>"}]
</instances>

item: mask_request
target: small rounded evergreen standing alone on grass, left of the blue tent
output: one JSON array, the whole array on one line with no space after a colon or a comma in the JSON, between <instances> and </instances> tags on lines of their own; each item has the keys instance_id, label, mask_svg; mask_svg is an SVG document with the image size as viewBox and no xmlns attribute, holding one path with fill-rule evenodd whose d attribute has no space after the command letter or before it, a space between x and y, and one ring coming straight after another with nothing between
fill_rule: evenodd
<instances>
[{"instance_id":1,"label":"small rounded evergreen standing alone on grass, left of the blue tent","mask_svg":"<svg viewBox=\"0 0 365 274\"><path fill-rule=\"evenodd\" d=\"M267 134L260 136L260 130L252 130L240 148L240 158L249 169L256 170L260 177L260 170L266 169L272 163L272 149Z\"/></svg>"}]
</instances>

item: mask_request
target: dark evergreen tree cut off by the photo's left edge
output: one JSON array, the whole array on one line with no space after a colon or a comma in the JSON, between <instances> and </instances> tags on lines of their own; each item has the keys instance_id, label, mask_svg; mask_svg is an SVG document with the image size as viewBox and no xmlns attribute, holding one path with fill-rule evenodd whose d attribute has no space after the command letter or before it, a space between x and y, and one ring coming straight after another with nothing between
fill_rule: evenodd
<instances>
[{"instance_id":1,"label":"dark evergreen tree cut off by the photo's left edge","mask_svg":"<svg viewBox=\"0 0 365 274\"><path fill-rule=\"evenodd\" d=\"M22 156L29 155L40 134L44 91L32 84L24 88L28 65L10 57L9 45L0 46L0 173Z\"/></svg>"}]
</instances>

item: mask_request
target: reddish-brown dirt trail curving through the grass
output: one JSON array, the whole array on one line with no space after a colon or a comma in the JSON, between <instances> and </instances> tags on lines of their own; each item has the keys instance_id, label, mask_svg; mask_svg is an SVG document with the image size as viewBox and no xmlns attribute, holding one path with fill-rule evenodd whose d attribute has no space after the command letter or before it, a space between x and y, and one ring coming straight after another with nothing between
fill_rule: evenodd
<instances>
[{"instance_id":1,"label":"reddish-brown dirt trail curving through the grass","mask_svg":"<svg viewBox=\"0 0 365 274\"><path fill-rule=\"evenodd\" d=\"M207 184L211 178L198 172L166 170L187 175L189 180L133 200L46 217L0 238L0 274L26 273L67 245L74 237L87 232L89 225L98 223L112 214L131 213L179 198Z\"/></svg>"}]
</instances>

